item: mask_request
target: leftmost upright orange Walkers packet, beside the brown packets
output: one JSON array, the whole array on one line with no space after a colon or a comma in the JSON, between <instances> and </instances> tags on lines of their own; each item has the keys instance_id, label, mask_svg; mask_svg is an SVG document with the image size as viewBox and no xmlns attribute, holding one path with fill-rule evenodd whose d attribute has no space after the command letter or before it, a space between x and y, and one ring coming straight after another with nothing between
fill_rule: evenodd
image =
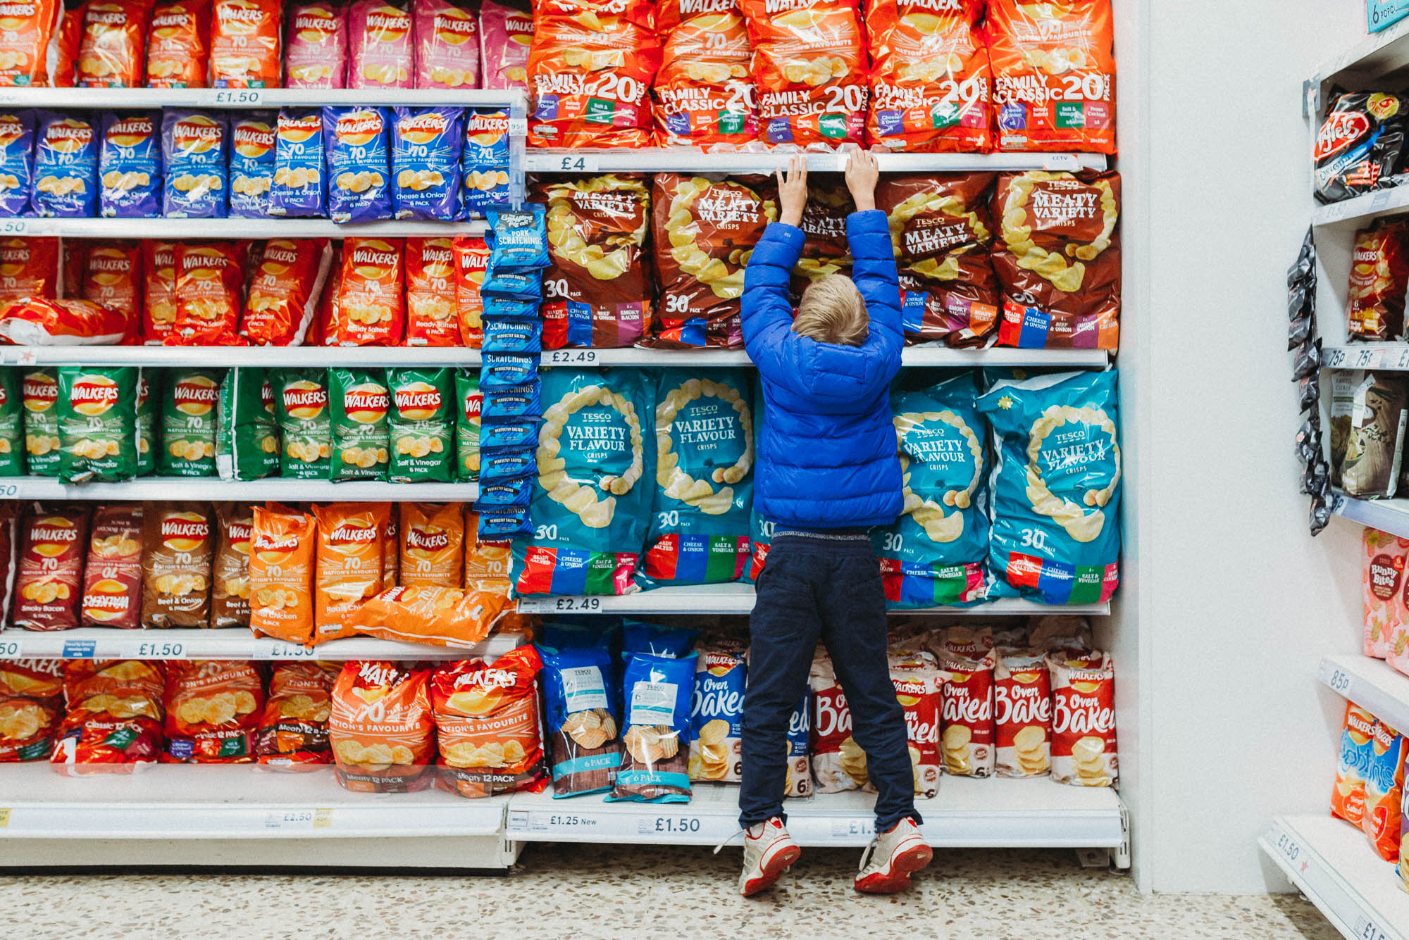
<instances>
[{"instance_id":1,"label":"leftmost upright orange Walkers packet, beside the brown packets","mask_svg":"<svg viewBox=\"0 0 1409 940\"><path fill-rule=\"evenodd\" d=\"M254 508L249 629L290 643L313 642L313 516L283 507Z\"/></svg>"}]
</instances>

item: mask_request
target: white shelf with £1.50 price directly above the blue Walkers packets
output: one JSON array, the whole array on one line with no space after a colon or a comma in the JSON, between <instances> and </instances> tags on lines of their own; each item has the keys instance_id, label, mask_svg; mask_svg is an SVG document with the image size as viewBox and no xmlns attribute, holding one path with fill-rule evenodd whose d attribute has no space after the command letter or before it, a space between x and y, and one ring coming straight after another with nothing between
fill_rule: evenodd
<instances>
[{"instance_id":1,"label":"white shelf with \u00a31.50 price directly above the blue Walkers packets","mask_svg":"<svg viewBox=\"0 0 1409 940\"><path fill-rule=\"evenodd\" d=\"M459 107L524 106L507 89L4 89L0 104L42 108L278 108L323 104L445 104Z\"/></svg>"}]
</instances>

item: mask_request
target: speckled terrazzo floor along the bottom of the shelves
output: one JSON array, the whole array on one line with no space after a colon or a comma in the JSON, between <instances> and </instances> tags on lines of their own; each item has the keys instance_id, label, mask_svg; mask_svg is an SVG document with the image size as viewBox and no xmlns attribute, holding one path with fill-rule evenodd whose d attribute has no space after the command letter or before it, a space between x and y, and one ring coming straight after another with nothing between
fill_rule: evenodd
<instances>
[{"instance_id":1,"label":"speckled terrazzo floor along the bottom of the shelves","mask_svg":"<svg viewBox=\"0 0 1409 940\"><path fill-rule=\"evenodd\" d=\"M858 854L807 850L761 899L738 850L530 846L506 878L0 878L4 940L1334 940L1296 896L1141 896L1071 851L947 851L905 895L851 889Z\"/></svg>"}]
</instances>

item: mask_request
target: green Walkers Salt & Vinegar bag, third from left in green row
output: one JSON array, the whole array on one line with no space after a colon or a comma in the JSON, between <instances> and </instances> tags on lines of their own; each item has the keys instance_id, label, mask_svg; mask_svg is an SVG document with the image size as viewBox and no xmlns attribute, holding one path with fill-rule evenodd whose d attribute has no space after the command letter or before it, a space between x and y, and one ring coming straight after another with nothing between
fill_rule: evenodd
<instances>
[{"instance_id":1,"label":"green Walkers Salt & Vinegar bag, third from left in green row","mask_svg":"<svg viewBox=\"0 0 1409 940\"><path fill-rule=\"evenodd\" d=\"M117 483L137 476L135 366L59 366L59 477Z\"/></svg>"}]
</instances>

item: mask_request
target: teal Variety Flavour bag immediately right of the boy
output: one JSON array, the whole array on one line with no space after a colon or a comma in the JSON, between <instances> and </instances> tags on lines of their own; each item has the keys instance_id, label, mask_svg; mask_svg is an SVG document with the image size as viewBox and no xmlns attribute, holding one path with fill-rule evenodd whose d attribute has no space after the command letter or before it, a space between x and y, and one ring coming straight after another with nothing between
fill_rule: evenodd
<instances>
[{"instance_id":1,"label":"teal Variety Flavour bag immediately right of the boy","mask_svg":"<svg viewBox=\"0 0 1409 940\"><path fill-rule=\"evenodd\" d=\"M871 531L886 604L924 608L983 599L988 578L988 421L965 373L890 395L905 508Z\"/></svg>"}]
</instances>

